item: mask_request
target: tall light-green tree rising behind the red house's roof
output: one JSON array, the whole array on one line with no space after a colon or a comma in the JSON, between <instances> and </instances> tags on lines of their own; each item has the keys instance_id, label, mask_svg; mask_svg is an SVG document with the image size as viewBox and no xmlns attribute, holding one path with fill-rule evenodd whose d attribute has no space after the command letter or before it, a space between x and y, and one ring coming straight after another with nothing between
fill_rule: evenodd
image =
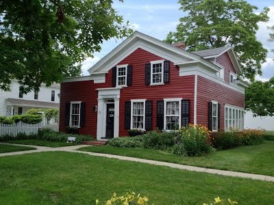
<instances>
[{"instance_id":1,"label":"tall light-green tree rising behind the red house's roof","mask_svg":"<svg viewBox=\"0 0 274 205\"><path fill-rule=\"evenodd\" d=\"M262 74L267 50L256 38L258 23L269 20L269 8L258 8L243 0L179 0L186 15L166 42L184 41L189 51L232 46L242 67L242 76L253 81Z\"/></svg>"}]
</instances>

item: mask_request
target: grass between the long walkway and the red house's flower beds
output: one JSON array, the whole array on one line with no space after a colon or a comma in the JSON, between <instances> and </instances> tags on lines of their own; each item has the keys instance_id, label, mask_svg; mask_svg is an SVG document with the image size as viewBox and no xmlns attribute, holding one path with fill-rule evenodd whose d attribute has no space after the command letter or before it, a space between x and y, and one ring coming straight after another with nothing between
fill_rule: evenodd
<instances>
[{"instance_id":1,"label":"grass between the long walkway and the red house's flower beds","mask_svg":"<svg viewBox=\"0 0 274 205\"><path fill-rule=\"evenodd\" d=\"M93 146L79 150L274 176L274 141L264 141L258 146L242 146L195 157L177 156L145 148L115 148L112 146Z\"/></svg>"}]
</instances>

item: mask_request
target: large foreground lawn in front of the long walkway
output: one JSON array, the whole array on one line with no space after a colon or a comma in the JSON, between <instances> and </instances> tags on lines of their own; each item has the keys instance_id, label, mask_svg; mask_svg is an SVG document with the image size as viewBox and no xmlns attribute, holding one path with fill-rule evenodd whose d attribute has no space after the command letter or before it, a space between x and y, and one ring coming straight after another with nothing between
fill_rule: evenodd
<instances>
[{"instance_id":1,"label":"large foreground lawn in front of the long walkway","mask_svg":"<svg viewBox=\"0 0 274 205\"><path fill-rule=\"evenodd\" d=\"M230 197L274 204L274 183L189 172L70 152L0 158L0 204L95 204L135 191L150 204L203 204ZM184 203L183 203L184 202ZM195 203L196 202L196 203ZM189 203L190 204L190 203Z\"/></svg>"}]
</instances>

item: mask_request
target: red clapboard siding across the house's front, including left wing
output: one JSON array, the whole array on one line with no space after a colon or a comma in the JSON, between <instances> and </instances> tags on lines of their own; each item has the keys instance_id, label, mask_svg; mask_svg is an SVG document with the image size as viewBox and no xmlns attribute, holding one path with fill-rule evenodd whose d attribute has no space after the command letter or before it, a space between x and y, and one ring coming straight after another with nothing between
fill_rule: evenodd
<instances>
[{"instance_id":1,"label":"red clapboard siding across the house's front, including left wing","mask_svg":"<svg viewBox=\"0 0 274 205\"><path fill-rule=\"evenodd\" d=\"M170 83L155 86L145 85L145 64L160 59L162 59L162 57L158 57L157 55L153 55L142 49L137 49L131 55L119 62L118 65L132 65L132 85L121 89L119 136L128 135L124 124L124 111L125 101L131 99L153 100L153 129L156 128L157 100L162 100L163 98L190 99L190 122L193 123L194 76L179 77L179 69L171 62ZM97 113L92 111L92 107L97 105L98 92L95 89L103 87L112 87L112 69L106 75L105 83L95 84L93 81L79 81L61 84L60 131L65 131L65 103L82 101L86 102L86 124L84 127L80 128L80 133L91 134L96 137ZM105 125L102 124L102 126Z\"/></svg>"}]
</instances>

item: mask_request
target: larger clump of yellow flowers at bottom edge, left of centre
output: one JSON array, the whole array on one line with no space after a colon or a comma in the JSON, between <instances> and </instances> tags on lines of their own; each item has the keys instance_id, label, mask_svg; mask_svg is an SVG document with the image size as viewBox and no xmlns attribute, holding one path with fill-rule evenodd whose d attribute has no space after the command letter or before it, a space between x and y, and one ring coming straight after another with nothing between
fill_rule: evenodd
<instances>
[{"instance_id":1,"label":"larger clump of yellow flowers at bottom edge, left of centre","mask_svg":"<svg viewBox=\"0 0 274 205\"><path fill-rule=\"evenodd\" d=\"M96 200L96 205L134 205L134 204L141 204L141 205L148 205L149 199L147 197L141 197L140 193L136 196L134 192L126 193L122 196L117 196L114 193L110 200L100 203L99 200Z\"/></svg>"}]
</instances>

